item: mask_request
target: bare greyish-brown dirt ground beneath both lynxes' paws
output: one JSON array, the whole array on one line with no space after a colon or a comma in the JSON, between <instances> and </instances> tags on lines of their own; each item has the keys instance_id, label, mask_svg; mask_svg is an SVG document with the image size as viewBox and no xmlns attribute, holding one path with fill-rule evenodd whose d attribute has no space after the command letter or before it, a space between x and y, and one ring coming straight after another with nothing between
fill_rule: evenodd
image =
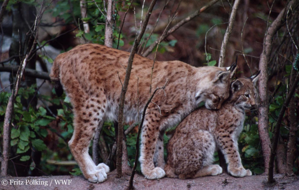
<instances>
[{"instance_id":1,"label":"bare greyish-brown dirt ground beneath both lynxes' paws","mask_svg":"<svg viewBox=\"0 0 299 190\"><path fill-rule=\"evenodd\" d=\"M41 177L6 177L0 178L0 190L125 190L129 175L121 179L115 178L115 172L108 174L108 179L101 184L93 184L83 176L41 176ZM5 181L6 180L6 181ZM147 180L141 175L135 175L136 190L299 190L299 177L286 177L276 174L274 185L266 183L267 176L255 175L235 178L228 174L207 176L197 179ZM7 182L7 185L5 183ZM23 182L23 184L22 184ZM64 184L61 184L64 182ZM14 185L12 185L14 183ZM27 185L26 185L27 183ZM60 184L58 184L60 183ZM31 185L29 185L31 184ZM4 186L5 185L5 186Z\"/></svg>"}]
</instances>

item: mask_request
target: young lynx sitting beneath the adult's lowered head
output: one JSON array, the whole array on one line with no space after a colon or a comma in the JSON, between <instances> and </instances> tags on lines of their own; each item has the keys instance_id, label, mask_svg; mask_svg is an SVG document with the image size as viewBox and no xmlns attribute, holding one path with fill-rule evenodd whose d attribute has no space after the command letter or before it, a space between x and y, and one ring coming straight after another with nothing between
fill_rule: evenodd
<instances>
[{"instance_id":1,"label":"young lynx sitting beneath the adult's lowered head","mask_svg":"<svg viewBox=\"0 0 299 190\"><path fill-rule=\"evenodd\" d=\"M219 148L228 164L228 173L236 177L251 175L244 169L238 152L238 137L243 129L245 110L255 105L252 79L237 79L231 94L219 110L200 107L189 114L175 129L167 151L166 176L197 178L222 173L219 165L211 165Z\"/></svg>"}]
</instances>

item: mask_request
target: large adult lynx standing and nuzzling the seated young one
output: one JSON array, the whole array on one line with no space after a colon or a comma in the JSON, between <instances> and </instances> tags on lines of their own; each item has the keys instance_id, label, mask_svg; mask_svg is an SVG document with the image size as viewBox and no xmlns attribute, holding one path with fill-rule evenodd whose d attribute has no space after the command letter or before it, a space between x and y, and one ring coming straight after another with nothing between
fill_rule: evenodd
<instances>
[{"instance_id":1,"label":"large adult lynx standing and nuzzling the seated young one","mask_svg":"<svg viewBox=\"0 0 299 190\"><path fill-rule=\"evenodd\" d=\"M55 59L51 80L55 88L63 85L74 107L74 134L69 146L84 176L90 182L103 182L109 171L104 164L95 166L88 146L102 120L117 120L125 66L129 53L98 44L84 44ZM141 118L149 98L152 60L135 55L125 97L125 122ZM163 133L205 101L208 109L220 108L228 98L231 67L193 67L179 61L156 62L152 89L162 87L149 104L142 130L141 170L148 179L165 175ZM138 97L139 91L139 97ZM61 94L61 93L58 93ZM156 156L154 167L153 157Z\"/></svg>"}]
</instances>

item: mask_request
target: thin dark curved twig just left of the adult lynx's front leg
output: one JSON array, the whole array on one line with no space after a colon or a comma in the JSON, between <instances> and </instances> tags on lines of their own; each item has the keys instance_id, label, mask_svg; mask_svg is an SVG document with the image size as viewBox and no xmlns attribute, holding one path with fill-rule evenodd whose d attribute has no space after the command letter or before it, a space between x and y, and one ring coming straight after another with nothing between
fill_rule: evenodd
<instances>
[{"instance_id":1,"label":"thin dark curved twig just left of the adult lynx's front leg","mask_svg":"<svg viewBox=\"0 0 299 190\"><path fill-rule=\"evenodd\" d=\"M163 90L164 90L167 84L168 84L168 81L164 84L163 87L161 87L161 88L156 88L155 91L153 91L152 95L149 97L149 100L148 100L147 104L144 106L143 114L142 114L142 119L141 119L141 123L140 123L140 125L139 125L139 127L138 127L137 140L136 140L135 162L134 162L134 167L133 167L133 169L132 169L132 174L131 174L130 181L129 181L129 190L133 190L133 179L134 179L135 171L136 171L136 168L137 168L137 164L138 164L138 156L139 156L140 132L141 132L141 129L142 129L142 126L143 126L143 122L144 122L144 118L145 118L145 115L146 115L147 108L148 108L148 106L149 106L149 103L151 102L151 99L152 99L153 96L155 95L155 93L156 93L159 89L163 89Z\"/></svg>"}]
</instances>

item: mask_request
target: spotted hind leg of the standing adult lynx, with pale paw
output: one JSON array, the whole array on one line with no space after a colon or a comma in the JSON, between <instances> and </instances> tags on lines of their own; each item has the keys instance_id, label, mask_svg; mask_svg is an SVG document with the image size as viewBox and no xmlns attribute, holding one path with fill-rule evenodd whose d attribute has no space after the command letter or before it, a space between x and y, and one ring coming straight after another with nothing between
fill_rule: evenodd
<instances>
[{"instance_id":1,"label":"spotted hind leg of the standing adult lynx, with pale paw","mask_svg":"<svg viewBox=\"0 0 299 190\"><path fill-rule=\"evenodd\" d=\"M88 98L87 95L75 98L71 96L74 106L74 133L69 141L69 147L84 177L90 182L101 183L107 179L106 173L109 172L109 167L103 163L96 166L88 154L88 147L103 118L106 107L106 100L103 99L105 96L103 94L93 98Z\"/></svg>"}]
</instances>

